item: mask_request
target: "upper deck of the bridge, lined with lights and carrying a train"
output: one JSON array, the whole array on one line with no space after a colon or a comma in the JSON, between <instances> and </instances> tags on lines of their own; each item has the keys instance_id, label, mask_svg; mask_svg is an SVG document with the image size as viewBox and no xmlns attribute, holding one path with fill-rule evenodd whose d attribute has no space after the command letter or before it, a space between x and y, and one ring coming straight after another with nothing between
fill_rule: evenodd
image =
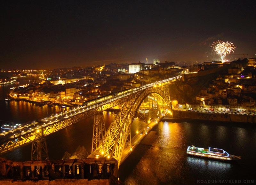
<instances>
[{"instance_id":1,"label":"upper deck of the bridge, lined with lights and carrying a train","mask_svg":"<svg viewBox=\"0 0 256 185\"><path fill-rule=\"evenodd\" d=\"M129 95L139 93L151 87L164 86L181 76L175 76L162 81L146 84L138 88L126 89L107 96L99 97L85 102L82 106L74 108L68 112L56 114L50 118L33 121L26 125L14 126L13 130L0 134L0 153L12 150L15 147L30 143L40 138L42 135L49 135L62 128L65 128L80 120L94 115L95 111L104 111L116 106L122 101L127 101Z\"/></svg>"}]
</instances>

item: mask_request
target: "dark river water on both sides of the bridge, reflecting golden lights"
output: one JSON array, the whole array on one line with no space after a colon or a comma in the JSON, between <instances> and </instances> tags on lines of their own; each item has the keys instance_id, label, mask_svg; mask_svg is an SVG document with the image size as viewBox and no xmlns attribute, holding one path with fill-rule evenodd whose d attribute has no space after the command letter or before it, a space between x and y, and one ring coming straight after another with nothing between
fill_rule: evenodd
<instances>
[{"instance_id":1,"label":"dark river water on both sides of the bridge, reflecting golden lights","mask_svg":"<svg viewBox=\"0 0 256 185\"><path fill-rule=\"evenodd\" d=\"M25 83L26 80L24 80ZM11 86L0 87L4 99ZM0 120L25 123L59 112L57 107L35 106L27 102L0 100ZM115 115L104 113L106 127ZM137 123L132 125L135 135ZM84 146L90 153L93 118L60 130L46 137L49 157L62 158L65 151L75 152ZM224 162L191 157L187 146L215 147L229 154L241 156L240 161ZM30 160L31 145L24 146L2 157L12 160ZM256 182L256 126L243 123L223 123L195 120L165 119L141 141L119 168L119 178L124 184L203 184L216 182L245 184ZM208 181L209 180L209 181ZM238 181L235 181L238 180ZM244 181L245 180L245 181ZM240 183L238 183L240 182ZM208 183L209 184L209 183ZM252 183L251 183L252 184Z\"/></svg>"}]
</instances>

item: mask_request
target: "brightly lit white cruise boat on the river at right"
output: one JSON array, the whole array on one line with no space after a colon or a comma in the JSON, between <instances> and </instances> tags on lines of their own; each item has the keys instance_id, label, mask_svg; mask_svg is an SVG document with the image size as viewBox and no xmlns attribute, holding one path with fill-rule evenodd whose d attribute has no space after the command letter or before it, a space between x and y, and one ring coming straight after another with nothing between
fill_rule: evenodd
<instances>
[{"instance_id":1,"label":"brightly lit white cruise boat on the river at right","mask_svg":"<svg viewBox=\"0 0 256 185\"><path fill-rule=\"evenodd\" d=\"M199 156L199 157L220 159L220 160L241 159L240 156L229 155L228 152L222 149L211 148L211 147L209 147L208 149L204 149L204 148L195 147L193 145L188 147L187 154Z\"/></svg>"}]
</instances>

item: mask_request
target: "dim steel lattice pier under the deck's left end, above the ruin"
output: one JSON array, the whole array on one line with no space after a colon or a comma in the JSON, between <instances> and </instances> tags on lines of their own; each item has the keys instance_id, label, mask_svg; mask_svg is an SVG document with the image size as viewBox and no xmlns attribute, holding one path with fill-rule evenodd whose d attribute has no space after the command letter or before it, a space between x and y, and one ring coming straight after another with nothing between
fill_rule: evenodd
<instances>
[{"instance_id":1,"label":"dim steel lattice pier under the deck's left end, above the ruin","mask_svg":"<svg viewBox=\"0 0 256 185\"><path fill-rule=\"evenodd\" d=\"M43 129L41 129L41 138L32 142L31 160L49 160L46 139L44 138Z\"/></svg>"}]
</instances>

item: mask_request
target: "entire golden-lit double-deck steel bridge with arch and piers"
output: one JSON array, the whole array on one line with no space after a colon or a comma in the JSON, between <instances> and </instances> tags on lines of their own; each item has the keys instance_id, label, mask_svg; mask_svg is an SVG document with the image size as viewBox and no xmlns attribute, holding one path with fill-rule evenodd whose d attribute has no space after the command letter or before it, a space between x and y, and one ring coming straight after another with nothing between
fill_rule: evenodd
<instances>
[{"instance_id":1,"label":"entire golden-lit double-deck steel bridge with arch and piers","mask_svg":"<svg viewBox=\"0 0 256 185\"><path fill-rule=\"evenodd\" d=\"M147 132L165 114L171 113L168 84L179 78L181 76L127 89L85 102L80 107L51 118L23 126L14 125L11 130L0 134L0 153L32 143L31 160L49 159L45 136L94 116L92 153L89 158L115 158L119 166ZM118 113L106 130L103 111L108 109L118 109ZM135 118L144 122L144 127L138 128L137 135L131 138L130 128Z\"/></svg>"}]
</instances>

